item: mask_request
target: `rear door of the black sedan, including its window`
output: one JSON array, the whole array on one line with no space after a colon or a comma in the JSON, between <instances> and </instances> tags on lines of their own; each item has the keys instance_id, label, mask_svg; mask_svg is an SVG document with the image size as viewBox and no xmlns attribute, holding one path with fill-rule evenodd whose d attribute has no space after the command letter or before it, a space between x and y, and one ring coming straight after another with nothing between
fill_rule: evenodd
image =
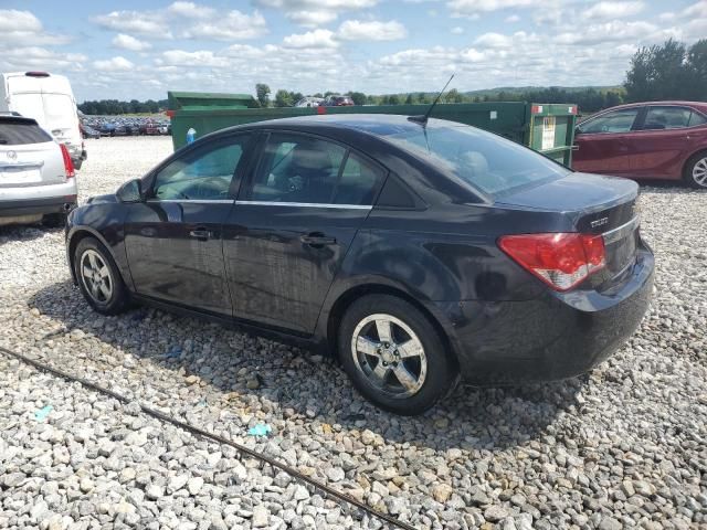
<instances>
[{"instance_id":1,"label":"rear door of the black sedan, including its window","mask_svg":"<svg viewBox=\"0 0 707 530\"><path fill-rule=\"evenodd\" d=\"M312 333L384 176L334 141L270 134L224 226L234 316Z\"/></svg>"}]
</instances>

